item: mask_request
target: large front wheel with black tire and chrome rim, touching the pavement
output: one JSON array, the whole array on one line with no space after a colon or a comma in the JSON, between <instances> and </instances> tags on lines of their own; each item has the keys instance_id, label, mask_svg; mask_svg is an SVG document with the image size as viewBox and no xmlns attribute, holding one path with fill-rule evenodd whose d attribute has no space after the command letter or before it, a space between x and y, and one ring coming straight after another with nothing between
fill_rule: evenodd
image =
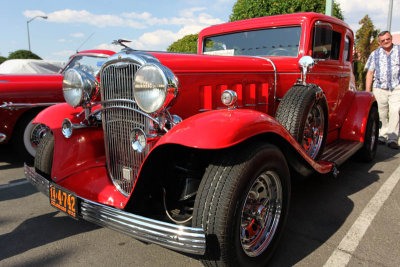
<instances>
[{"instance_id":1,"label":"large front wheel with black tire and chrome rim, touching the pavement","mask_svg":"<svg viewBox=\"0 0 400 267\"><path fill-rule=\"evenodd\" d=\"M207 266L265 266L286 222L290 173L282 152L254 143L221 153L208 166L193 226L207 235Z\"/></svg>"}]
</instances>

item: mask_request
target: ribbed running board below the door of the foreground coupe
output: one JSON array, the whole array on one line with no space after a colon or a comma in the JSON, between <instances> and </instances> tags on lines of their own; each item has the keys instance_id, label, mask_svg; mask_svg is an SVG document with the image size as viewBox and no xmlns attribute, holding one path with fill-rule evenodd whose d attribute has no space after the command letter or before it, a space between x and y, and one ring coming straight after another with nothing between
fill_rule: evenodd
<instances>
[{"instance_id":1,"label":"ribbed running board below the door of the foreground coupe","mask_svg":"<svg viewBox=\"0 0 400 267\"><path fill-rule=\"evenodd\" d=\"M325 147L321 161L334 162L341 165L348 158L353 156L362 146L363 142L338 139Z\"/></svg>"}]
</instances>

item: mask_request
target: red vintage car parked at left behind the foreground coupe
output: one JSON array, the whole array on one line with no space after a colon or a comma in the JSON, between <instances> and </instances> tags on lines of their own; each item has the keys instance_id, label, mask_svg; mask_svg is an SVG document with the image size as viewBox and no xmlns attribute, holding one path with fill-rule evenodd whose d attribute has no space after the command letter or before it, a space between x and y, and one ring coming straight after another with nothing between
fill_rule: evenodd
<instances>
[{"instance_id":1,"label":"red vintage car parked at left behind the foreground coupe","mask_svg":"<svg viewBox=\"0 0 400 267\"><path fill-rule=\"evenodd\" d=\"M0 144L11 142L22 158L33 159L46 127L33 125L32 120L45 107L64 102L64 73L77 68L94 75L113 54L109 50L78 52L55 74L0 74Z\"/></svg>"}]
</instances>

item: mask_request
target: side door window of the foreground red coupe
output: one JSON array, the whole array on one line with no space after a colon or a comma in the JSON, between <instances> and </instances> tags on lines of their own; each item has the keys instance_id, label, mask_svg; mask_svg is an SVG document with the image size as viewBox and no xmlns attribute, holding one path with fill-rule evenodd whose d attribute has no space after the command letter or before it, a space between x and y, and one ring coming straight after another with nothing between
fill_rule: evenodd
<instances>
[{"instance_id":1,"label":"side door window of the foreground red coupe","mask_svg":"<svg viewBox=\"0 0 400 267\"><path fill-rule=\"evenodd\" d=\"M329 23L317 22L314 27L313 58L338 60L342 35Z\"/></svg>"}]
</instances>

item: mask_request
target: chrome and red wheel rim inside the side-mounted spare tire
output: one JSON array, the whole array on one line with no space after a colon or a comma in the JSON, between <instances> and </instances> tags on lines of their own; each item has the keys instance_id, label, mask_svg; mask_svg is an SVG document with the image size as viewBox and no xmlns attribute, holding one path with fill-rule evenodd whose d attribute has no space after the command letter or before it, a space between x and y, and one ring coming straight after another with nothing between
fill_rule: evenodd
<instances>
[{"instance_id":1,"label":"chrome and red wheel rim inside the side-mounted spare tire","mask_svg":"<svg viewBox=\"0 0 400 267\"><path fill-rule=\"evenodd\" d=\"M304 126L302 147L313 159L316 158L324 140L324 112L321 105L315 104L307 114Z\"/></svg>"}]
</instances>

